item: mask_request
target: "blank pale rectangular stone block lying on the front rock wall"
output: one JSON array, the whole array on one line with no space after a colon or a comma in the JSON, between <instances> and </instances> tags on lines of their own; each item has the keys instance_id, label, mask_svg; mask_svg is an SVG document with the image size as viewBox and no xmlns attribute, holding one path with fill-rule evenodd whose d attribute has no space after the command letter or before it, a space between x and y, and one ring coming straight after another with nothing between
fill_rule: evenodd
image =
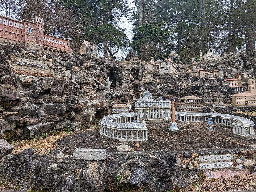
<instances>
[{"instance_id":1,"label":"blank pale rectangular stone block lying on the front rock wall","mask_svg":"<svg viewBox=\"0 0 256 192\"><path fill-rule=\"evenodd\" d=\"M106 149L79 149L73 151L73 159L78 160L105 160Z\"/></svg>"}]
</instances>

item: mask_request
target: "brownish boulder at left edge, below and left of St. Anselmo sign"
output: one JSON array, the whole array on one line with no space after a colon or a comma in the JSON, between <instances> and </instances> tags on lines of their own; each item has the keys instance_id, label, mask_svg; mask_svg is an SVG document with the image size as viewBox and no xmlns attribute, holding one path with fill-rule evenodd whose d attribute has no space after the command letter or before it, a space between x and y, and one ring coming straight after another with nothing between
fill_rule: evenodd
<instances>
[{"instance_id":1,"label":"brownish boulder at left edge, below and left of St. Anselmo sign","mask_svg":"<svg viewBox=\"0 0 256 192\"><path fill-rule=\"evenodd\" d=\"M2 101L12 101L19 99L19 91L12 85L0 86L0 99Z\"/></svg>"}]
</instances>

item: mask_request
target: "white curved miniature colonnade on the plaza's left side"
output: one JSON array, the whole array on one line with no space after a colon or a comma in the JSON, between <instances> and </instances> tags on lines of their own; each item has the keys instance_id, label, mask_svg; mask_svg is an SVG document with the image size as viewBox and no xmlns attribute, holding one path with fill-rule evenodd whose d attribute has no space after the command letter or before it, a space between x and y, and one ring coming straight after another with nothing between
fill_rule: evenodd
<instances>
[{"instance_id":1,"label":"white curved miniature colonnade on the plaza's left side","mask_svg":"<svg viewBox=\"0 0 256 192\"><path fill-rule=\"evenodd\" d=\"M103 117L99 121L100 134L115 140L122 138L129 142L148 143L148 128L145 121L137 123L138 114L119 113Z\"/></svg>"}]
</instances>

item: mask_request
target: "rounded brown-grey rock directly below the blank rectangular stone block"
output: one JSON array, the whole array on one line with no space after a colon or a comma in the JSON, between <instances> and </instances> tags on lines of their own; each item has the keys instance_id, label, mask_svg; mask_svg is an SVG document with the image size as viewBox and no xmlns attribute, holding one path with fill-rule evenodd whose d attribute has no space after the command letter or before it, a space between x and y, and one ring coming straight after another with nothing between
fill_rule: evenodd
<instances>
[{"instance_id":1,"label":"rounded brown-grey rock directly below the blank rectangular stone block","mask_svg":"<svg viewBox=\"0 0 256 192\"><path fill-rule=\"evenodd\" d=\"M83 171L83 182L88 191L104 191L106 187L106 176L103 163L90 163Z\"/></svg>"}]
</instances>

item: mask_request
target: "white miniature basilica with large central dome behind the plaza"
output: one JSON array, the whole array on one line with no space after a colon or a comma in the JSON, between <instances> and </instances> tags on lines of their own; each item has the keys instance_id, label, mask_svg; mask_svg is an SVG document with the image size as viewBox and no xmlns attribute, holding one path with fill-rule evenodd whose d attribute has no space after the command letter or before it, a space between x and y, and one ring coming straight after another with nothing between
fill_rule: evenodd
<instances>
[{"instance_id":1,"label":"white miniature basilica with large central dome behind the plaza","mask_svg":"<svg viewBox=\"0 0 256 192\"><path fill-rule=\"evenodd\" d=\"M171 101L159 97L157 101L152 99L152 94L145 91L143 97L135 102L135 113L139 118L168 118L171 114Z\"/></svg>"}]
</instances>

